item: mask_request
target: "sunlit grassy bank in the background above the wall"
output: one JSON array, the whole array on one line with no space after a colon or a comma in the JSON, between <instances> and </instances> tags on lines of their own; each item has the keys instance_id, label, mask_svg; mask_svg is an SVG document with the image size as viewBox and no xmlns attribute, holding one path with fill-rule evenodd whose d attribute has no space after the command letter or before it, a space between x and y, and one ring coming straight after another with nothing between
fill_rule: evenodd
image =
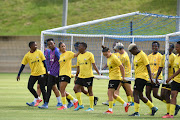
<instances>
[{"instance_id":1,"label":"sunlit grassy bank in the background above the wall","mask_svg":"<svg viewBox=\"0 0 180 120\"><path fill-rule=\"evenodd\" d=\"M69 0L68 25L140 11L176 15L177 0ZM63 0L1 0L0 35L40 35L61 27Z\"/></svg>"}]
</instances>

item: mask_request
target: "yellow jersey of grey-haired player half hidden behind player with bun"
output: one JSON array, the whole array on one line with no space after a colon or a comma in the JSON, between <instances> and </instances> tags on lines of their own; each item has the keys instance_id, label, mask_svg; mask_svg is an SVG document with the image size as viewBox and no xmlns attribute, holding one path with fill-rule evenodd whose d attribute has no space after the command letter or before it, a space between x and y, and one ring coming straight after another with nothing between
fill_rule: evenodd
<instances>
[{"instance_id":1,"label":"yellow jersey of grey-haired player half hidden behind player with bun","mask_svg":"<svg viewBox=\"0 0 180 120\"><path fill-rule=\"evenodd\" d=\"M131 77L131 63L127 52L120 54L120 61L122 62L125 69L125 77Z\"/></svg>"}]
</instances>

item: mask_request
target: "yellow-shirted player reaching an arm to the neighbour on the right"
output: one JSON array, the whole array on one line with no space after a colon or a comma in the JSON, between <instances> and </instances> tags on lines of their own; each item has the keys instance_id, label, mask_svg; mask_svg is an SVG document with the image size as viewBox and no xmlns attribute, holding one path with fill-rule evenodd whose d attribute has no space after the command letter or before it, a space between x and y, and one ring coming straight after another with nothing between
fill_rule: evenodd
<instances>
[{"instance_id":1,"label":"yellow-shirted player reaching an arm to the neighbour on the right","mask_svg":"<svg viewBox=\"0 0 180 120\"><path fill-rule=\"evenodd\" d=\"M79 55L79 52L73 53L71 51L66 51L66 45L62 42L59 43L59 49L60 52L62 53L59 59L59 64L60 64L59 77L60 77L60 92L61 92L61 99L63 106L58 108L58 110L67 109L66 97L72 100L74 103L74 107L77 108L78 106L77 99L75 99L71 94L66 92L66 87L71 80L72 59L77 57Z\"/></svg>"}]
</instances>

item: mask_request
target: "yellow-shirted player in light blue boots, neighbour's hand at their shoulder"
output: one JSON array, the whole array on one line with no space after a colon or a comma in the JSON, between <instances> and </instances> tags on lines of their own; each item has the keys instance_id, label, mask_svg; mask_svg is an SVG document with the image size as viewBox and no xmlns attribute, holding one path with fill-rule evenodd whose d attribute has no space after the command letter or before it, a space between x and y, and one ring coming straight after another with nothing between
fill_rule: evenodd
<instances>
[{"instance_id":1,"label":"yellow-shirted player in light blue boots, neighbour's hand at their shoulder","mask_svg":"<svg viewBox=\"0 0 180 120\"><path fill-rule=\"evenodd\" d=\"M94 103L94 96L92 91L93 86L93 71L92 66L96 70L97 74L99 75L99 70L96 67L94 55L91 52L86 51L87 44L84 42L80 42L78 46L78 50L80 52L79 56L77 57L77 72L75 77L75 86L74 91L76 93L76 97L78 99L79 105L75 111L84 108L81 100L81 88L85 86L88 88L89 93L89 100L90 100L90 108L86 111L94 111L93 103Z\"/></svg>"}]
</instances>

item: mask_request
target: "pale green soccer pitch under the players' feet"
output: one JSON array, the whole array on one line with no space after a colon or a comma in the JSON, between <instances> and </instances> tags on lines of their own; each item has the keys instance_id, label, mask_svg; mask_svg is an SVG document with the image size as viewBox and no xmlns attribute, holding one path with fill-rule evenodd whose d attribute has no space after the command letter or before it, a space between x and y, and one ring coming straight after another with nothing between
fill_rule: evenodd
<instances>
[{"instance_id":1,"label":"pale green soccer pitch under the players' feet","mask_svg":"<svg viewBox=\"0 0 180 120\"><path fill-rule=\"evenodd\" d=\"M27 82L29 74L22 74L21 80L16 81L17 74L0 74L0 120L158 120L166 113L166 105L153 98L153 103L159 108L159 111L155 116L145 115L150 112L150 109L141 101L140 103L140 117L129 117L129 114L134 112L134 107L130 107L128 113L125 113L123 106L116 102L116 106L113 107L113 114L103 114L108 109L108 106L102 105L102 102L107 100L107 86L108 80L96 80L94 79L93 91L94 95L99 97L98 104L94 106L93 112L86 112L89 107L89 97L82 94L84 109L74 111L73 108L59 111L57 110L57 100L54 93L51 95L49 108L38 109L37 107L29 107L26 102L32 102L33 96L27 89ZM71 84L68 85L67 91L74 97L73 92L74 79L71 80ZM132 83L134 84L134 83ZM36 87L36 85L35 85ZM120 96L127 101L124 90L121 88ZM42 98L42 97L41 97ZM178 104L180 104L180 97L178 96ZM42 103L40 104L42 105ZM174 120L180 119L180 113L175 116Z\"/></svg>"}]
</instances>

